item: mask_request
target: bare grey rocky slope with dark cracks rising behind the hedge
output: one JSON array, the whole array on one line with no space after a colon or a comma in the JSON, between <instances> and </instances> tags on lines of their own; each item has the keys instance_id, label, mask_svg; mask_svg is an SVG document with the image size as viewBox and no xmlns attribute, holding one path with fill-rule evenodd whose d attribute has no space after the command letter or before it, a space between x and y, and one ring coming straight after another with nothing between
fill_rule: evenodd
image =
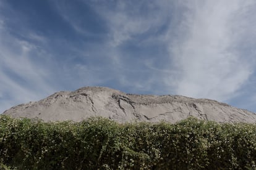
<instances>
[{"instance_id":1,"label":"bare grey rocky slope with dark cracks rising behind the hedge","mask_svg":"<svg viewBox=\"0 0 256 170\"><path fill-rule=\"evenodd\" d=\"M195 116L217 122L256 123L255 113L215 100L180 95L125 94L107 87L82 87L74 92L56 92L38 102L12 107L3 114L43 121L81 121L91 116L103 116L119 123L162 120L175 123Z\"/></svg>"}]
</instances>

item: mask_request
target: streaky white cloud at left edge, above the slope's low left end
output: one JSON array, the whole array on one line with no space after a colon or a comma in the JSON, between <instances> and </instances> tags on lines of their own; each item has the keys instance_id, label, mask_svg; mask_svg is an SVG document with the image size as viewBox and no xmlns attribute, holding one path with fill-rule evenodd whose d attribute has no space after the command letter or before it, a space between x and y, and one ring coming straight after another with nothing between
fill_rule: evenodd
<instances>
[{"instance_id":1,"label":"streaky white cloud at left edge, above the slope's low left end","mask_svg":"<svg viewBox=\"0 0 256 170\"><path fill-rule=\"evenodd\" d=\"M28 35L29 36L29 35ZM28 37L29 38L29 37ZM32 38L36 38L32 36ZM38 37L36 38L38 39ZM32 61L41 55L34 44L17 39L3 25L0 30L0 113L19 103L54 92L46 83L48 70Z\"/></svg>"}]
</instances>

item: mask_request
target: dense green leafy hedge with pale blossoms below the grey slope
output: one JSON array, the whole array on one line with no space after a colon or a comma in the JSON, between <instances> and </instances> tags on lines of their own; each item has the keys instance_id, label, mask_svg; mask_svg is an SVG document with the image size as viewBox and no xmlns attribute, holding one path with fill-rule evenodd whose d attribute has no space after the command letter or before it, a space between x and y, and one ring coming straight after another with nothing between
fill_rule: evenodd
<instances>
[{"instance_id":1,"label":"dense green leafy hedge with pale blossoms below the grey slope","mask_svg":"<svg viewBox=\"0 0 256 170\"><path fill-rule=\"evenodd\" d=\"M255 169L256 125L0 116L0 169Z\"/></svg>"}]
</instances>

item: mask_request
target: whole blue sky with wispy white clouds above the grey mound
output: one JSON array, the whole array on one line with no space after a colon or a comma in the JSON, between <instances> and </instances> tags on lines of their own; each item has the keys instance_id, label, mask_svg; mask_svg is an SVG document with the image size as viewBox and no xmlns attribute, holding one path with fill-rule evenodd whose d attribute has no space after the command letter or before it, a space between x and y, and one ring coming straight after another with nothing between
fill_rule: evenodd
<instances>
[{"instance_id":1,"label":"whole blue sky with wispy white clouds above the grey mound","mask_svg":"<svg viewBox=\"0 0 256 170\"><path fill-rule=\"evenodd\" d=\"M0 0L0 113L84 86L256 113L256 1Z\"/></svg>"}]
</instances>

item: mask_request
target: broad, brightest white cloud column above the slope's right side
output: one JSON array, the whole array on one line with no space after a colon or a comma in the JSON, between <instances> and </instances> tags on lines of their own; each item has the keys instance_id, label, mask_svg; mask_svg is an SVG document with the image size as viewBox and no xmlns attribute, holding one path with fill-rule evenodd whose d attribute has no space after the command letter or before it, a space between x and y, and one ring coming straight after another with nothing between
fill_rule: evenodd
<instances>
[{"instance_id":1,"label":"broad, brightest white cloud column above the slope's right side","mask_svg":"<svg viewBox=\"0 0 256 170\"><path fill-rule=\"evenodd\" d=\"M249 1L248 1L249 2ZM234 46L247 30L237 23L247 18L237 12L248 12L252 3L245 1L187 1L187 11L179 25L180 41L170 39L171 67L176 76L176 93L199 98L227 100L252 74L252 56L239 55ZM241 17L241 16L240 16ZM233 31L239 32L234 36ZM169 81L173 81L169 79Z\"/></svg>"}]
</instances>

